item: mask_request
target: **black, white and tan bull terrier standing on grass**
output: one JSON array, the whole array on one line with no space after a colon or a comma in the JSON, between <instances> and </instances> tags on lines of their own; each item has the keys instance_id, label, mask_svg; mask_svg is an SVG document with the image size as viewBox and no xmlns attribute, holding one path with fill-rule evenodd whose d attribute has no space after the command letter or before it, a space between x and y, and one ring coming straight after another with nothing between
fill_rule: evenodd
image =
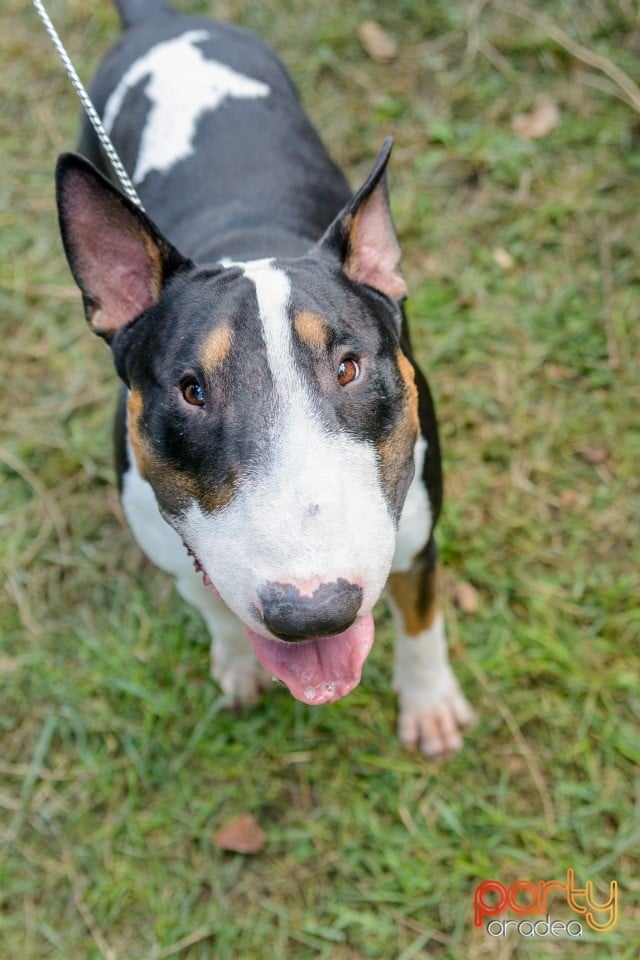
<instances>
[{"instance_id":1,"label":"black, white and tan bull terrier standing on grass","mask_svg":"<svg viewBox=\"0 0 640 960\"><path fill-rule=\"evenodd\" d=\"M165 0L118 7L92 95L148 214L104 175L86 122L56 195L123 382L131 529L202 614L233 704L273 678L308 704L349 693L386 584L400 739L451 754L472 713L438 602L440 449L403 310L391 141L353 194L260 40Z\"/></svg>"}]
</instances>

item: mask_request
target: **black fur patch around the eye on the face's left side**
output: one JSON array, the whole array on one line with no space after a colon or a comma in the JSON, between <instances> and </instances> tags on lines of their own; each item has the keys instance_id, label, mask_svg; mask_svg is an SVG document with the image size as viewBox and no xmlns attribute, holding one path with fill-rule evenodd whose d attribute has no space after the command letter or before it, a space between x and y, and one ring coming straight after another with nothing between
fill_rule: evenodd
<instances>
[{"instance_id":1,"label":"black fur patch around the eye on the face's left side","mask_svg":"<svg viewBox=\"0 0 640 960\"><path fill-rule=\"evenodd\" d=\"M223 324L233 347L207 370L203 343ZM273 419L254 284L238 268L193 270L169 283L160 301L116 336L113 349L121 376L142 396L137 429L160 465L160 479L147 479L162 510L175 516L194 496L205 510L224 505L252 466L265 462ZM201 385L203 407L185 402L185 377ZM178 478L173 491L161 476L165 467Z\"/></svg>"}]
</instances>

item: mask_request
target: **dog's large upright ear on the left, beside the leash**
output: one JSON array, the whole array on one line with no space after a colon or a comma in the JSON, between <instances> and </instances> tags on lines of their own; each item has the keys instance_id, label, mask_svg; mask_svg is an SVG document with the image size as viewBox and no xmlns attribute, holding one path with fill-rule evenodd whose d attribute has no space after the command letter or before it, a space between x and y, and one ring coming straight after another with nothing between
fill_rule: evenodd
<instances>
[{"instance_id":1,"label":"dog's large upright ear on the left, beside the leash","mask_svg":"<svg viewBox=\"0 0 640 960\"><path fill-rule=\"evenodd\" d=\"M191 265L93 164L63 153L56 167L62 243L94 333L110 341Z\"/></svg>"}]
</instances>

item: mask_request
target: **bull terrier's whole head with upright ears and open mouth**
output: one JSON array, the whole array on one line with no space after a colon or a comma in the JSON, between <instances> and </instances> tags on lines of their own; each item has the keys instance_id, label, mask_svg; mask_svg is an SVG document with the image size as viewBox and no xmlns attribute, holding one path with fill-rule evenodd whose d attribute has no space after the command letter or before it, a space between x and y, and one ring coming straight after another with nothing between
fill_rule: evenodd
<instances>
[{"instance_id":1,"label":"bull terrier's whole head with upright ears and open mouth","mask_svg":"<svg viewBox=\"0 0 640 960\"><path fill-rule=\"evenodd\" d=\"M65 251L129 388L137 469L306 702L359 680L413 475L389 152L306 256L211 267L86 160L58 163Z\"/></svg>"}]
</instances>

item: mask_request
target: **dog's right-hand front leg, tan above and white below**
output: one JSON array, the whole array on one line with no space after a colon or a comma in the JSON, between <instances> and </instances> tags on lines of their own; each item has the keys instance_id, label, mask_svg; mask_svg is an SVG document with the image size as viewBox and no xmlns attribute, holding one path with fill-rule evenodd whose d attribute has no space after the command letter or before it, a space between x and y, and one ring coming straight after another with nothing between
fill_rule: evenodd
<instances>
[{"instance_id":1,"label":"dog's right-hand front leg, tan above and white below","mask_svg":"<svg viewBox=\"0 0 640 960\"><path fill-rule=\"evenodd\" d=\"M442 759L462 745L460 731L472 722L473 711L449 663L435 548L424 551L409 570L392 573L388 594L397 630L393 686L400 740Z\"/></svg>"}]
</instances>

